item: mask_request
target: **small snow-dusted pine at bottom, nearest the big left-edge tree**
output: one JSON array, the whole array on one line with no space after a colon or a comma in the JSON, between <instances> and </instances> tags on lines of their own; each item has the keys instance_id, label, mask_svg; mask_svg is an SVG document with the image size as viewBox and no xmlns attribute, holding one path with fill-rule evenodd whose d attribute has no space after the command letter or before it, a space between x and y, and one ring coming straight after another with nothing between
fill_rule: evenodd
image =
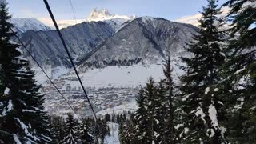
<instances>
[{"instance_id":1,"label":"small snow-dusted pine at bottom, nearest the big left-edge tree","mask_svg":"<svg viewBox=\"0 0 256 144\"><path fill-rule=\"evenodd\" d=\"M68 114L66 118L65 137L62 142L66 144L74 144L81 142L79 138L79 123L74 119L73 114Z\"/></svg>"}]
</instances>

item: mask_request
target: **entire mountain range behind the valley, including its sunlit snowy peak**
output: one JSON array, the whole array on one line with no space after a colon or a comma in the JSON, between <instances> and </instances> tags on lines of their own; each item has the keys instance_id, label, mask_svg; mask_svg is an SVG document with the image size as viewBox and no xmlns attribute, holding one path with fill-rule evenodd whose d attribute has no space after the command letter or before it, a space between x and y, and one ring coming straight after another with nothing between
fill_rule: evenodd
<instances>
[{"instance_id":1,"label":"entire mountain range behind the valley, including its sunlit snowy peak","mask_svg":"<svg viewBox=\"0 0 256 144\"><path fill-rule=\"evenodd\" d=\"M69 68L70 62L56 30L32 18L25 19L25 22L26 25L14 23L14 26L22 32L22 42L38 62ZM36 26L38 29L34 28ZM61 30L78 65L129 60L134 62L141 59L154 62L166 53L174 55L184 51L186 42L190 41L196 31L195 26L170 22L164 18L120 16L110 14L107 10L93 10L87 22Z\"/></svg>"}]
</instances>

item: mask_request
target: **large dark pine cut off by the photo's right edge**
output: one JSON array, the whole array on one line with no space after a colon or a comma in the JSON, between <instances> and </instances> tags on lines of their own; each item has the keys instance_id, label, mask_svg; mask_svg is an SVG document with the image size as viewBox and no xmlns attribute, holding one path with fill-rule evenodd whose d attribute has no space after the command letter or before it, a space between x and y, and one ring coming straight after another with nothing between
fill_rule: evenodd
<instances>
[{"instance_id":1,"label":"large dark pine cut off by the photo's right edge","mask_svg":"<svg viewBox=\"0 0 256 144\"><path fill-rule=\"evenodd\" d=\"M232 22L228 58L223 68L230 105L226 123L228 138L233 143L256 142L256 1L228 0L228 18Z\"/></svg>"}]
</instances>

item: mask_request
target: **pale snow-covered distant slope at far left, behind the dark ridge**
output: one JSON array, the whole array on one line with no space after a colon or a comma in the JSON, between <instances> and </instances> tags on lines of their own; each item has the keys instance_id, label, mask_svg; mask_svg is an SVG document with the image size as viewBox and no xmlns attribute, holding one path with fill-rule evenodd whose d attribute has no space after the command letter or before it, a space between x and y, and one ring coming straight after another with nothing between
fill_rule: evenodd
<instances>
[{"instance_id":1,"label":"pale snow-covered distant slope at far left, behind the dark ridge","mask_svg":"<svg viewBox=\"0 0 256 144\"><path fill-rule=\"evenodd\" d=\"M15 30L19 34L25 33L28 30L34 30L34 31L52 30L50 26L46 26L42 22L38 21L38 19L36 18L12 18L10 22L14 24Z\"/></svg>"}]
</instances>

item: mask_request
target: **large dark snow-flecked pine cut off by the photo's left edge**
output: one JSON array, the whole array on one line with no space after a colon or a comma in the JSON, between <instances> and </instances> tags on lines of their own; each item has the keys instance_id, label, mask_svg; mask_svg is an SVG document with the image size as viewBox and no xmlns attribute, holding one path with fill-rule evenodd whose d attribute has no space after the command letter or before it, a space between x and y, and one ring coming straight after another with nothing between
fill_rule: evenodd
<instances>
[{"instance_id":1,"label":"large dark snow-flecked pine cut off by the photo's left edge","mask_svg":"<svg viewBox=\"0 0 256 144\"><path fill-rule=\"evenodd\" d=\"M50 118L44 111L40 86L34 81L29 62L10 40L10 15L6 1L0 6L0 139L7 143L51 142Z\"/></svg>"}]
</instances>

